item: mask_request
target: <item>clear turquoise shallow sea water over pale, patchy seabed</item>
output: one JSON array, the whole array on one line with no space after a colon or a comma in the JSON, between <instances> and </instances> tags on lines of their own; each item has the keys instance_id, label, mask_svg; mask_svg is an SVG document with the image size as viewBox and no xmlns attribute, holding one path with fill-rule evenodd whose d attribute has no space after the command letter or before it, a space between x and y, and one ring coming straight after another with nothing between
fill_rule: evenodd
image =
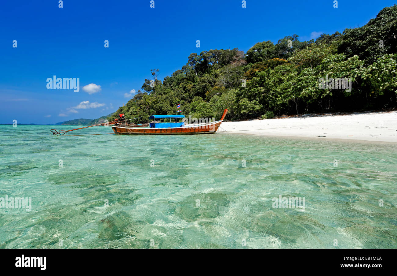
<instances>
[{"instance_id":1,"label":"clear turquoise shallow sea water over pale, patchy seabed","mask_svg":"<svg viewBox=\"0 0 397 276\"><path fill-rule=\"evenodd\" d=\"M0 248L397 248L397 145L50 128L0 125Z\"/></svg>"}]
</instances>

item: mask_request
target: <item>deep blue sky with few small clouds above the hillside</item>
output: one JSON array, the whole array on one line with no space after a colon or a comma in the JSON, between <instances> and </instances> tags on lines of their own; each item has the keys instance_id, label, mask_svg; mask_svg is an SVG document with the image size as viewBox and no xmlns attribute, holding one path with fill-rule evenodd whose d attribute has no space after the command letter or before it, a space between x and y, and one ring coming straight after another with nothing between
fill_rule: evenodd
<instances>
[{"instance_id":1,"label":"deep blue sky with few small clouds above the hillside","mask_svg":"<svg viewBox=\"0 0 397 276\"><path fill-rule=\"evenodd\" d=\"M300 40L365 25L394 1L150 0L2 2L0 123L53 124L107 115L192 52L247 51L287 35ZM13 40L17 47L13 48ZM104 41L109 47L104 47ZM196 41L200 40L200 48ZM80 91L47 89L47 78L79 78ZM84 86L91 85L88 91ZM100 89L99 87L100 86ZM93 88L96 88L93 89ZM94 92L94 93L92 93Z\"/></svg>"}]
</instances>

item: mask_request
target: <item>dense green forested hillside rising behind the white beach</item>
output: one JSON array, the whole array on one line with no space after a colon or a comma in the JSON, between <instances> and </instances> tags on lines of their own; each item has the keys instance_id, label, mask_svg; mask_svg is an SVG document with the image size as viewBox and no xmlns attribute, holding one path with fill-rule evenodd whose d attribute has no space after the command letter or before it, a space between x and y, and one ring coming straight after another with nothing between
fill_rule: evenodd
<instances>
[{"instance_id":1,"label":"dense green forested hillside rising behind the white beach","mask_svg":"<svg viewBox=\"0 0 397 276\"><path fill-rule=\"evenodd\" d=\"M397 6L343 34L316 41L286 36L276 45L256 43L246 53L209 50L192 53L187 64L163 81L158 69L142 91L109 117L182 114L228 120L310 112L363 111L397 105ZM320 79L351 78L351 87L319 85ZM347 83L348 85L348 83ZM324 89L325 88L325 89Z\"/></svg>"}]
</instances>

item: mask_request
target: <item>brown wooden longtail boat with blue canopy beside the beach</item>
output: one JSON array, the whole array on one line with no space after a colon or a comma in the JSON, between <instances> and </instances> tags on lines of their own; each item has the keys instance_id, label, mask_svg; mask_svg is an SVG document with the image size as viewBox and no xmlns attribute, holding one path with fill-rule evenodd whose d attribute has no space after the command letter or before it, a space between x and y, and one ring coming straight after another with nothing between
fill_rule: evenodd
<instances>
[{"instance_id":1,"label":"brown wooden longtail boat with blue canopy beside the beach","mask_svg":"<svg viewBox=\"0 0 397 276\"><path fill-rule=\"evenodd\" d=\"M121 122L112 125L112 129L116 134L208 134L215 133L220 124L223 122L227 113L225 109L222 118L219 121L204 122L199 124L186 124L185 122L160 122L156 119L183 119L183 115L150 115L149 119L153 119L148 127L129 126Z\"/></svg>"}]
</instances>

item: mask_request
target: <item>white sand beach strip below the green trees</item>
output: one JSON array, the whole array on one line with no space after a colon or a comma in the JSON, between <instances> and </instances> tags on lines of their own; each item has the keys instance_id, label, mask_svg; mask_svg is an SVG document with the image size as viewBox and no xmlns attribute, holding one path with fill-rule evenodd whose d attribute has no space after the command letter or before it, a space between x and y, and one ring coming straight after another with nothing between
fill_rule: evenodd
<instances>
[{"instance_id":1,"label":"white sand beach strip below the green trees","mask_svg":"<svg viewBox=\"0 0 397 276\"><path fill-rule=\"evenodd\" d=\"M397 142L397 111L306 114L266 120L223 122L218 132L314 139Z\"/></svg>"}]
</instances>

